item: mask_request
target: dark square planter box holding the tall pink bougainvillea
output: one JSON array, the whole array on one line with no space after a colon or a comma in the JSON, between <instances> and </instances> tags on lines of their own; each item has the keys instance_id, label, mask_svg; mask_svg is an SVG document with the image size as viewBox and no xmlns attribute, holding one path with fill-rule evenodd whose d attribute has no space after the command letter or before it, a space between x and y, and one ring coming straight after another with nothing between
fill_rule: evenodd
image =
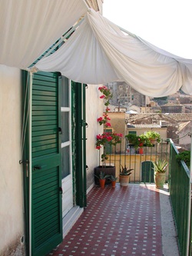
<instances>
[{"instance_id":1,"label":"dark square planter box holding the tall pink bougainvillea","mask_svg":"<svg viewBox=\"0 0 192 256\"><path fill-rule=\"evenodd\" d=\"M104 175L110 175L110 177L105 179L105 184L111 184L111 175L115 177L115 166L98 166L94 168L94 183L96 185L99 185L99 179L96 176L99 176L99 174L104 172ZM95 176L96 175L96 176Z\"/></svg>"}]
</instances>

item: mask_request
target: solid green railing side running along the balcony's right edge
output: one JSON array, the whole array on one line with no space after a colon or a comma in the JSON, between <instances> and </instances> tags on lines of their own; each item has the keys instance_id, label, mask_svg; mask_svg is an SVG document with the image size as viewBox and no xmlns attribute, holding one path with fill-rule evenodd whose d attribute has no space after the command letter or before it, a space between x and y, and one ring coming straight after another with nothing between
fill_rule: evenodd
<instances>
[{"instance_id":1,"label":"solid green railing side running along the balcony's right edge","mask_svg":"<svg viewBox=\"0 0 192 256\"><path fill-rule=\"evenodd\" d=\"M175 148L173 141L170 140L170 203L172 205L177 230L177 241L180 256L192 256L190 171L184 161L177 161L177 154L177 148Z\"/></svg>"}]
</instances>

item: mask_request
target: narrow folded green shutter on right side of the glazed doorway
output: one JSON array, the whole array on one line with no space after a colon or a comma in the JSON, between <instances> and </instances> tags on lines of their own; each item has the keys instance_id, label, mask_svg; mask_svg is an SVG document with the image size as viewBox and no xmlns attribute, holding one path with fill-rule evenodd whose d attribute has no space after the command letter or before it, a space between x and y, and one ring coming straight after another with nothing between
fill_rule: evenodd
<instances>
[{"instance_id":1,"label":"narrow folded green shutter on right side of the glazed doorway","mask_svg":"<svg viewBox=\"0 0 192 256\"><path fill-rule=\"evenodd\" d=\"M86 194L86 133L85 133L85 85L72 82L72 147L76 202L80 207L87 204ZM78 171L77 171L78 170Z\"/></svg>"}]
</instances>

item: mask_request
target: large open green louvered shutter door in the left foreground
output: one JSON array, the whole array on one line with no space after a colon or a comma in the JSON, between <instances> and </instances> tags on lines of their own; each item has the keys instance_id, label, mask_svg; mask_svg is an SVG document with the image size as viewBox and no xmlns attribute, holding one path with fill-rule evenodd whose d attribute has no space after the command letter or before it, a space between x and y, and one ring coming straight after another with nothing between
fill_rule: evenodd
<instances>
[{"instance_id":1,"label":"large open green louvered shutter door in the left foreground","mask_svg":"<svg viewBox=\"0 0 192 256\"><path fill-rule=\"evenodd\" d=\"M32 85L31 255L62 241L58 73L38 72Z\"/></svg>"}]
</instances>

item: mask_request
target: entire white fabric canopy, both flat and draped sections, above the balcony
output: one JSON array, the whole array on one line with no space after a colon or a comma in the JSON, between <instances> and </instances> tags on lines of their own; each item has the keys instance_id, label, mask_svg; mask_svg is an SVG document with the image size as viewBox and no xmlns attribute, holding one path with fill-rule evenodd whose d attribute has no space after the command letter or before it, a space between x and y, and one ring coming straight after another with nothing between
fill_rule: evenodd
<instances>
[{"instance_id":1,"label":"entire white fabric canopy, both flat and draped sections, above the balcony","mask_svg":"<svg viewBox=\"0 0 192 256\"><path fill-rule=\"evenodd\" d=\"M85 84L122 80L144 95L192 95L192 60L125 35L84 0L1 0L0 63L27 69L85 14L67 42L36 65ZM164 38L166 40L166 38Z\"/></svg>"}]
</instances>

